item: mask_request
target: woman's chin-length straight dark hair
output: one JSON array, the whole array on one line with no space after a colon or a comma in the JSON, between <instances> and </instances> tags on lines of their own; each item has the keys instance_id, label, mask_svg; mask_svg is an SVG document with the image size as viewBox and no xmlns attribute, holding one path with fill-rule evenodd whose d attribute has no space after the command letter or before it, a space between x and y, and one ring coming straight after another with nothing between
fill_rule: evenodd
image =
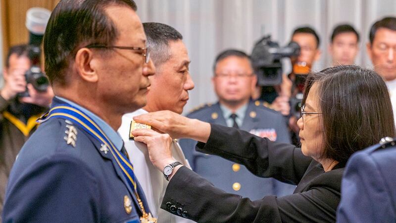
<instances>
[{"instance_id":1,"label":"woman's chin-length straight dark hair","mask_svg":"<svg viewBox=\"0 0 396 223\"><path fill-rule=\"evenodd\" d=\"M314 83L323 117L322 158L346 162L355 151L395 137L388 89L375 71L344 65L311 73L302 104Z\"/></svg>"}]
</instances>

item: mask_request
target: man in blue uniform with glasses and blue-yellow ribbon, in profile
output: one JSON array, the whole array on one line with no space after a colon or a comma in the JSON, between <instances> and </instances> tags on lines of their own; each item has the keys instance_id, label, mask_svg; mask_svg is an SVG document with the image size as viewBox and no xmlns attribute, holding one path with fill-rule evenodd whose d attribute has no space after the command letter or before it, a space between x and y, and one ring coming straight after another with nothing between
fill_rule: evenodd
<instances>
[{"instance_id":1,"label":"man in blue uniform with glasses and blue-yellow ribbon, in profile","mask_svg":"<svg viewBox=\"0 0 396 223\"><path fill-rule=\"evenodd\" d=\"M146 104L155 71L135 11L131 0L53 10L44 54L55 99L11 170L4 222L156 222L116 132Z\"/></svg>"}]
</instances>

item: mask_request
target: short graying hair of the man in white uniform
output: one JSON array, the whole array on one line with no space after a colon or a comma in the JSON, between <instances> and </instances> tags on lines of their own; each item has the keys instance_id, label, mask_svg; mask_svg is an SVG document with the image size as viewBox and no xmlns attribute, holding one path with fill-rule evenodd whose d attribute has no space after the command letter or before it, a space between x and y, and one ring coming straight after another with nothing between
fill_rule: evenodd
<instances>
[{"instance_id":1,"label":"short graying hair of the man in white uniform","mask_svg":"<svg viewBox=\"0 0 396 223\"><path fill-rule=\"evenodd\" d=\"M176 29L163 23L143 23L147 37L147 47L155 66L159 66L170 58L169 41L183 40L182 34Z\"/></svg>"}]
</instances>

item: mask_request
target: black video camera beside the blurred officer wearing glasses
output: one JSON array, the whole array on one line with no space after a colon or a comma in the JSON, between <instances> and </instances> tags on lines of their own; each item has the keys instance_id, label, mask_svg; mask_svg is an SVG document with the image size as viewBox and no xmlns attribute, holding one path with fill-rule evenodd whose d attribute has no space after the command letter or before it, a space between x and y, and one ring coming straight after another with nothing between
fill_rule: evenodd
<instances>
[{"instance_id":1,"label":"black video camera beside the blurred officer wearing glasses","mask_svg":"<svg viewBox=\"0 0 396 223\"><path fill-rule=\"evenodd\" d=\"M296 42L290 42L285 47L279 47L271 41L271 36L264 36L253 47L251 62L257 75L258 86L274 86L282 83L282 62L284 57L297 57L300 47Z\"/></svg>"}]
</instances>

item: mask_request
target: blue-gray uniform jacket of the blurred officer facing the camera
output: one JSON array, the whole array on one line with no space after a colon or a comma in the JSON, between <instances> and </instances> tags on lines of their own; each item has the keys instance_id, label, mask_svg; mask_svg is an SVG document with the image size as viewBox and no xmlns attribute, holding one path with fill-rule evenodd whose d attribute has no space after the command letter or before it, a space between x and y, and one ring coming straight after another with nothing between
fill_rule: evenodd
<instances>
[{"instance_id":1,"label":"blue-gray uniform jacket of the blurred officer facing the camera","mask_svg":"<svg viewBox=\"0 0 396 223\"><path fill-rule=\"evenodd\" d=\"M189 118L227 126L220 104L206 105L187 115ZM259 101L250 101L240 129L273 141L290 143L286 119L279 112L263 106ZM191 167L214 186L228 192L250 198L261 199L265 195L283 196L292 194L296 186L282 183L273 178L253 175L243 165L214 155L195 150L196 141L181 139L180 146Z\"/></svg>"}]
</instances>

